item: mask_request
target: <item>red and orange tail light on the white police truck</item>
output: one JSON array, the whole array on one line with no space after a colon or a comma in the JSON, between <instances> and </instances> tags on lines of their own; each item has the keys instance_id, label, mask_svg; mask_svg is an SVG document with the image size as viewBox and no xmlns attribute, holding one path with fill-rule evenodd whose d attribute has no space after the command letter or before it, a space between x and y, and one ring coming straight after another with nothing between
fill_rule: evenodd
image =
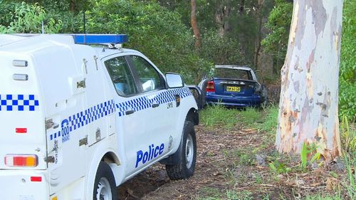
<instances>
[{"instance_id":1,"label":"red and orange tail light on the white police truck","mask_svg":"<svg viewBox=\"0 0 356 200\"><path fill-rule=\"evenodd\" d=\"M5 164L9 167L36 167L38 157L35 154L7 154Z\"/></svg>"}]
</instances>

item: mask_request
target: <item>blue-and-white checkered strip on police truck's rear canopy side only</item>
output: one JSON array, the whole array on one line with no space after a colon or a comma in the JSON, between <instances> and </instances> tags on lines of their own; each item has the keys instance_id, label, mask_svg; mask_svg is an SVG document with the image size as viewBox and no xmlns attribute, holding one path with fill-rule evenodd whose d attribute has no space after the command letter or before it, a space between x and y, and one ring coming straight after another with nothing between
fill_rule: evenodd
<instances>
[{"instance_id":1,"label":"blue-and-white checkered strip on police truck's rear canopy side only","mask_svg":"<svg viewBox=\"0 0 356 200\"><path fill-rule=\"evenodd\" d=\"M70 115L68 118L66 118L66 120L63 120L62 123L67 122L68 130L66 134L68 134L73 130L77 130L80 127L90 124L90 122L99 120L101 117L110 115L112 112L115 112L114 100L108 100L106 102L102 102L98 105L90 107L87 110L78 112L75 115ZM51 134L50 139L53 140L63 135L64 132L62 127L62 130Z\"/></svg>"}]
</instances>

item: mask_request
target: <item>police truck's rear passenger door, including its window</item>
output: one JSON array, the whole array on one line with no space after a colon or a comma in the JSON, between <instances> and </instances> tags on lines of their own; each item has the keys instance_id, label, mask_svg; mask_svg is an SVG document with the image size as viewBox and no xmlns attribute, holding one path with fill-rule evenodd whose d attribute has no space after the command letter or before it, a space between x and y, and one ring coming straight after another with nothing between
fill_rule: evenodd
<instances>
[{"instance_id":1,"label":"police truck's rear passenger door, including its window","mask_svg":"<svg viewBox=\"0 0 356 200\"><path fill-rule=\"evenodd\" d=\"M147 127L157 125L157 123L150 125L150 121L147 120L155 112L155 102L153 98L150 99L142 93L142 86L135 78L137 77L135 70L132 70L128 62L131 63L129 56L111 56L104 61L112 81L112 91L116 93L115 122L117 140L123 145L126 156L125 177L130 177L159 157L159 154L155 157L155 148L160 149L158 153L164 152L164 147L157 144L152 139L150 130L147 130Z\"/></svg>"}]
</instances>

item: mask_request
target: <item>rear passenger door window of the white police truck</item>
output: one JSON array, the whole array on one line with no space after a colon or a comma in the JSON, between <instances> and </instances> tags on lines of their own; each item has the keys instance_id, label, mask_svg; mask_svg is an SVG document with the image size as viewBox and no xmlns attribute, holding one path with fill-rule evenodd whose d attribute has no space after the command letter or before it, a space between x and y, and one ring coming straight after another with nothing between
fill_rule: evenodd
<instances>
[{"instance_id":1,"label":"rear passenger door window of the white police truck","mask_svg":"<svg viewBox=\"0 0 356 200\"><path fill-rule=\"evenodd\" d=\"M112 83L117 94L129 96L137 93L135 80L124 57L112 58L105 61Z\"/></svg>"}]
</instances>

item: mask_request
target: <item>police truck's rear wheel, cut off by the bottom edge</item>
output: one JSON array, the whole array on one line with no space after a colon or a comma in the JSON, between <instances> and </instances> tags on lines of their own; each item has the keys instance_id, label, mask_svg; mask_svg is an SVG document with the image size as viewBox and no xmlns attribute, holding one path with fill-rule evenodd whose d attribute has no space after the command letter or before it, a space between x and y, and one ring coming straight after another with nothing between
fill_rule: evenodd
<instances>
[{"instance_id":1,"label":"police truck's rear wheel, cut off by the bottom edge","mask_svg":"<svg viewBox=\"0 0 356 200\"><path fill-rule=\"evenodd\" d=\"M114 174L105 162L100 162L95 175L93 200L117 200Z\"/></svg>"}]
</instances>

